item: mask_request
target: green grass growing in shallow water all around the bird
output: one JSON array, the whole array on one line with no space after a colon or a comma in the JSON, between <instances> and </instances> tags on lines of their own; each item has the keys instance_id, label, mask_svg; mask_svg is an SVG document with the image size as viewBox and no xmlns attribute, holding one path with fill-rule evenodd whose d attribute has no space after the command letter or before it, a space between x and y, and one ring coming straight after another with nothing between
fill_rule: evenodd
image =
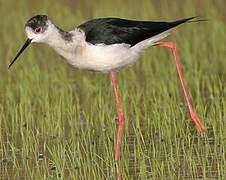
<instances>
[{"instance_id":1,"label":"green grass growing in shallow water all around the bird","mask_svg":"<svg viewBox=\"0 0 226 180\"><path fill-rule=\"evenodd\" d=\"M24 22L48 14L64 29L94 17L208 22L177 28L186 83L206 135L190 123L169 50L150 48L119 73L126 111L125 179L225 179L226 3L0 0L0 179L114 179L113 92L107 74L73 69L33 45L8 70L25 40ZM57 13L56 13L57 12Z\"/></svg>"}]
</instances>

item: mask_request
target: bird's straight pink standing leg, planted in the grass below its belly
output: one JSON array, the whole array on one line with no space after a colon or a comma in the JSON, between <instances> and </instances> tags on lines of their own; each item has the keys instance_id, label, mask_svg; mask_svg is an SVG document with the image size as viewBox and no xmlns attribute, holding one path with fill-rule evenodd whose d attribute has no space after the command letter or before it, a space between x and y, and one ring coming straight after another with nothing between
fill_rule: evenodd
<instances>
[{"instance_id":1,"label":"bird's straight pink standing leg, planted in the grass below its belly","mask_svg":"<svg viewBox=\"0 0 226 180\"><path fill-rule=\"evenodd\" d=\"M117 114L118 114L118 117L117 117L118 134L117 134L117 141L115 146L114 160L116 162L117 179L121 179L118 161L120 160L120 154L121 154L121 144L122 144L122 138L123 138L123 130L125 126L125 116L124 116L124 111L123 111L123 107L120 99L119 89L117 86L116 72L111 72L111 82L114 90L115 103L116 103Z\"/></svg>"}]
</instances>

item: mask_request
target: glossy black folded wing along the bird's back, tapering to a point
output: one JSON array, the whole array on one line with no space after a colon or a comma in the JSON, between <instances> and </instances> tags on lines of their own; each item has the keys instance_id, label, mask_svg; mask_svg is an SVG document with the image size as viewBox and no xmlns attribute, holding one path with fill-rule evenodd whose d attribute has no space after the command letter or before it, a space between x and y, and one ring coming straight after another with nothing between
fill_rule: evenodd
<instances>
[{"instance_id":1,"label":"glossy black folded wing along the bird's back, tapering to a point","mask_svg":"<svg viewBox=\"0 0 226 180\"><path fill-rule=\"evenodd\" d=\"M135 21L119 18L93 19L78 26L86 34L86 41L106 45L126 43L131 46L167 31L196 17L173 22Z\"/></svg>"}]
</instances>

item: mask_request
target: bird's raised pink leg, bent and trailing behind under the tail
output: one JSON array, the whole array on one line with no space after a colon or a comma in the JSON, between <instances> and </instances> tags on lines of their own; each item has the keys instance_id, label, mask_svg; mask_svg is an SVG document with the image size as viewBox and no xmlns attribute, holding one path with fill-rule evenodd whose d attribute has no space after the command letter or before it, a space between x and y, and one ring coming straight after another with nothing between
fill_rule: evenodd
<instances>
[{"instance_id":1,"label":"bird's raised pink leg, bent and trailing behind under the tail","mask_svg":"<svg viewBox=\"0 0 226 180\"><path fill-rule=\"evenodd\" d=\"M175 63L176 63L177 74L178 74L178 77L179 77L179 80L180 80L180 85L181 85L181 88L182 88L182 91L183 91L185 102L188 106L188 110L189 110L191 120L194 122L194 124L195 124L198 132L200 133L200 135L203 136L205 129L204 129L204 126L202 125L202 123L199 119L198 114L193 110L191 98L190 98L189 93L187 91L187 88L185 86L184 77L183 77L183 73L182 73L181 65L180 65L180 58L179 58L179 55L178 55L178 52L177 52L176 44L174 42L159 42L157 44L157 46L169 48L169 49L172 50L172 53L173 53L173 56L174 56L174 59L175 59Z\"/></svg>"}]
</instances>

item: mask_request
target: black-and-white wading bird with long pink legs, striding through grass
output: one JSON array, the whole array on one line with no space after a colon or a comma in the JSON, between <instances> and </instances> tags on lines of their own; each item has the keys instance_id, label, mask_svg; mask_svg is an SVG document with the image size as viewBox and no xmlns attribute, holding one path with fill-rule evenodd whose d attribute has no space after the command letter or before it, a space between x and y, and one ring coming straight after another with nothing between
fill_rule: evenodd
<instances>
[{"instance_id":1,"label":"black-and-white wading bird with long pink legs, striding through grass","mask_svg":"<svg viewBox=\"0 0 226 180\"><path fill-rule=\"evenodd\" d=\"M199 133L204 134L204 126L196 111L193 110L184 83L176 44L162 41L170 34L172 28L186 22L197 21L200 21L197 17L172 22L99 18L85 22L72 31L66 32L54 25L46 15L37 15L26 22L25 31L28 39L10 63L9 68L29 44L46 43L74 67L110 73L118 115L118 133L114 154L118 169L125 117L116 72L136 62L142 51L150 46L165 47L172 51L191 120Z\"/></svg>"}]
</instances>

